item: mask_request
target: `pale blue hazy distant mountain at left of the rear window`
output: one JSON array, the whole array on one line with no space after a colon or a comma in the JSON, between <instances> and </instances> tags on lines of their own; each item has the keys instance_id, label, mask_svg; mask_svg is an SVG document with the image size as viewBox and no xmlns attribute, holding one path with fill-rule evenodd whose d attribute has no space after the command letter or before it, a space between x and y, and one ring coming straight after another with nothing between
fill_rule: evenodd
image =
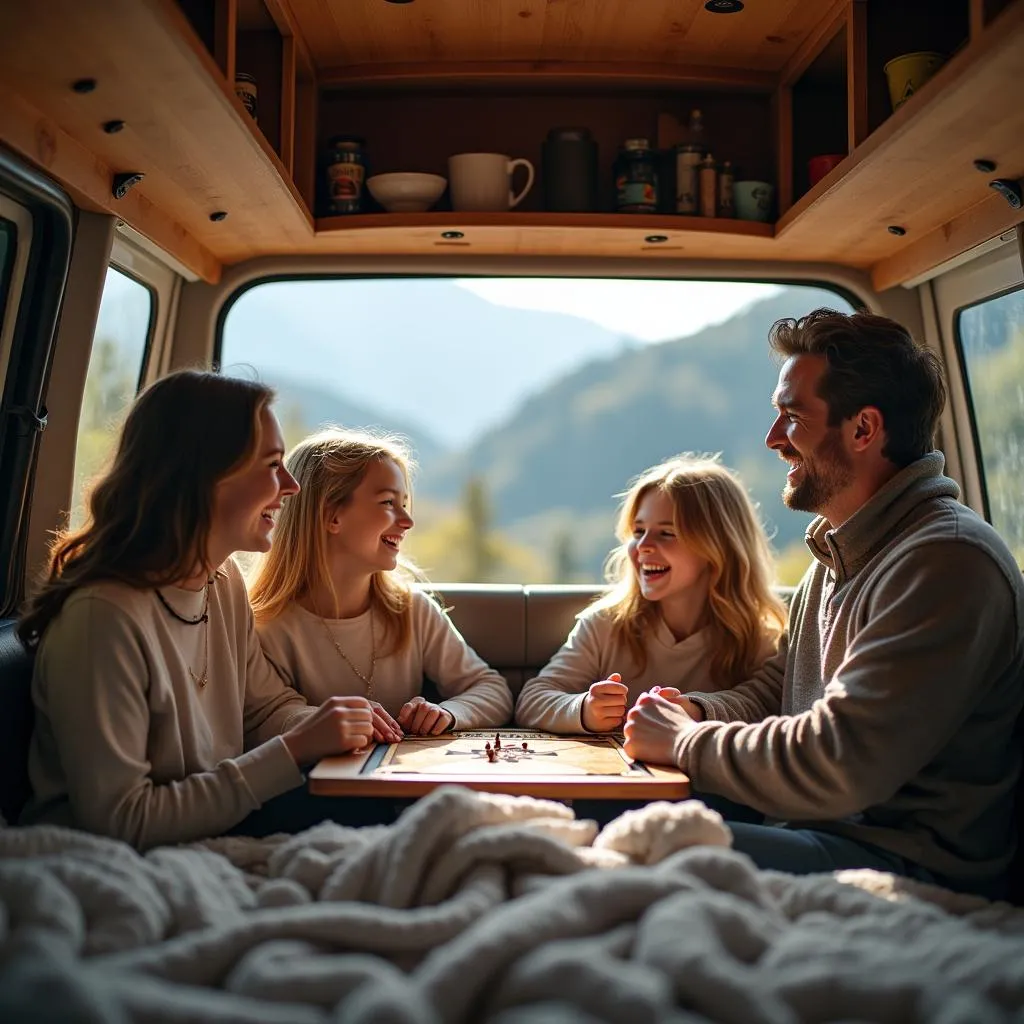
<instances>
[{"instance_id":1,"label":"pale blue hazy distant mountain at left of the rear window","mask_svg":"<svg viewBox=\"0 0 1024 1024\"><path fill-rule=\"evenodd\" d=\"M231 307L221 364L427 424L454 447L584 359L636 344L578 316L496 305L454 280L273 282Z\"/></svg>"}]
</instances>

